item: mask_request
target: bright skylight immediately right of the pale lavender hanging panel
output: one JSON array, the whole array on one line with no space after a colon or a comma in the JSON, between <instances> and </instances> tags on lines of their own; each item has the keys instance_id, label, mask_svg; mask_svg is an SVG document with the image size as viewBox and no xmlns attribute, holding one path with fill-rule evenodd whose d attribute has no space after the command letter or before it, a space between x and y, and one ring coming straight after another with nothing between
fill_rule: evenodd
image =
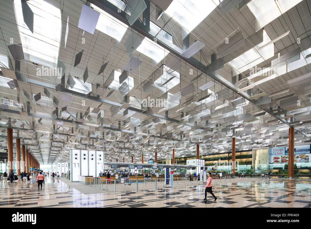
<instances>
[{"instance_id":1,"label":"bright skylight immediately right of the pale lavender hanging panel","mask_svg":"<svg viewBox=\"0 0 311 229\"><path fill-rule=\"evenodd\" d=\"M117 43L119 43L128 29L128 26L94 4L91 4L91 7L100 12L96 29L116 39L118 41Z\"/></svg>"}]
</instances>

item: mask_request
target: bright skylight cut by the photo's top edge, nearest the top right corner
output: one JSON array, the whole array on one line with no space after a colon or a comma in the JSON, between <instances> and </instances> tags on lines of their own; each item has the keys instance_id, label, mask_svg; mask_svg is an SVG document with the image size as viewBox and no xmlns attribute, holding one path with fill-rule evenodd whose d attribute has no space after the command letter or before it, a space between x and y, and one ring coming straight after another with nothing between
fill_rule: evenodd
<instances>
[{"instance_id":1,"label":"bright skylight cut by the photo's top edge, nearest the top right corner","mask_svg":"<svg viewBox=\"0 0 311 229\"><path fill-rule=\"evenodd\" d=\"M255 31L257 32L263 26L281 16L281 13L285 13L301 1L302 0L253 0L249 2L247 6L257 20L255 22Z\"/></svg>"}]
</instances>

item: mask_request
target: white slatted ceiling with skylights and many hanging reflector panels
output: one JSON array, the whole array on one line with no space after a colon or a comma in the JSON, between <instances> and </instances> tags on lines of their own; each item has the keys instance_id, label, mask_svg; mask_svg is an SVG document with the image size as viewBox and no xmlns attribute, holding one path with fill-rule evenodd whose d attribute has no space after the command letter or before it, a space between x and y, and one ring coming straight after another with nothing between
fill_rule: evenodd
<instances>
[{"instance_id":1,"label":"white slatted ceiling with skylights and many hanging reflector panels","mask_svg":"<svg viewBox=\"0 0 311 229\"><path fill-rule=\"evenodd\" d=\"M1 1L1 147L7 128L40 164L71 149L134 162L195 155L196 144L227 152L232 137L236 150L286 146L290 126L310 144L310 7Z\"/></svg>"}]
</instances>

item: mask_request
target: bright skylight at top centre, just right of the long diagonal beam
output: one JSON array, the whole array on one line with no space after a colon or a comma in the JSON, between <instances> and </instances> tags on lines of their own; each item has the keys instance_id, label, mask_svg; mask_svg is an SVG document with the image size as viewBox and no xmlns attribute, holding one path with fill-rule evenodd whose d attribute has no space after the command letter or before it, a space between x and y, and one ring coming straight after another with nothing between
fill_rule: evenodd
<instances>
[{"instance_id":1,"label":"bright skylight at top centre, just right of the long diagonal beam","mask_svg":"<svg viewBox=\"0 0 311 229\"><path fill-rule=\"evenodd\" d=\"M165 13L191 32L218 5L219 0L174 0Z\"/></svg>"}]
</instances>

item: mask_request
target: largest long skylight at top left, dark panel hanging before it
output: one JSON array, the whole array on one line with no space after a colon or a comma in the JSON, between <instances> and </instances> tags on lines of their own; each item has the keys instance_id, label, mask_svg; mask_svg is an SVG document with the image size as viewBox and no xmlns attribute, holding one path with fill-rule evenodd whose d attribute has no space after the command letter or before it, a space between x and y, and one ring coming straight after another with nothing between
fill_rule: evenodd
<instances>
[{"instance_id":1,"label":"largest long skylight at top left, dark panel hanging before it","mask_svg":"<svg viewBox=\"0 0 311 229\"><path fill-rule=\"evenodd\" d=\"M31 33L23 19L21 1L13 4L25 59L45 67L55 67L62 32L60 9L45 1L27 1L34 13L34 33Z\"/></svg>"}]
</instances>

